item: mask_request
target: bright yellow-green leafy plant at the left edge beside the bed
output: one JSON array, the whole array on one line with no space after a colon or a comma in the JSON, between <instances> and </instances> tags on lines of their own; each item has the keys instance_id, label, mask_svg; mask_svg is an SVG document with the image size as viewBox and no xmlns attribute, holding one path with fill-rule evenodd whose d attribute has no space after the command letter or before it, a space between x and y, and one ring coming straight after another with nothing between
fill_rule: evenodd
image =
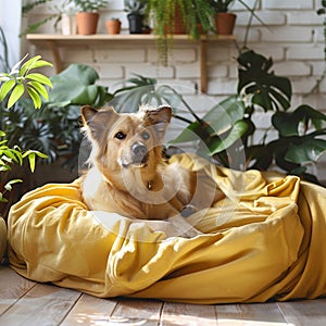
<instances>
[{"instance_id":1,"label":"bright yellow-green leafy plant at the left edge beside the bed","mask_svg":"<svg viewBox=\"0 0 326 326\"><path fill-rule=\"evenodd\" d=\"M41 97L48 98L45 86L51 86L51 82L34 70L51 64L41 60L40 55L28 61L25 59L15 64L10 73L0 73L0 105L7 110L15 105L25 92L33 100L35 109L40 108ZM29 162L30 171L34 172L37 156L46 158L35 150L24 151L18 145L9 146L5 131L0 130L0 263L7 247L7 225L3 220L9 210L9 205L5 205L9 201L7 195L15 184L22 183L22 179L12 177L10 172L14 166L23 165L26 160Z\"/></svg>"}]
</instances>

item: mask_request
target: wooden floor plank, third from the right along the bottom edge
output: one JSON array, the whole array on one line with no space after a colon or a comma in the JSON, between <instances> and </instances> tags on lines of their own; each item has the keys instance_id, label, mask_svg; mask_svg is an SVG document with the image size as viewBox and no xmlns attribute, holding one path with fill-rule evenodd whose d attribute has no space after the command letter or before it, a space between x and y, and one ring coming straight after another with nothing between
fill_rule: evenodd
<instances>
[{"instance_id":1,"label":"wooden floor plank, third from the right along the bottom edge","mask_svg":"<svg viewBox=\"0 0 326 326\"><path fill-rule=\"evenodd\" d=\"M163 306L160 325L216 326L215 309L214 305L166 302Z\"/></svg>"}]
</instances>

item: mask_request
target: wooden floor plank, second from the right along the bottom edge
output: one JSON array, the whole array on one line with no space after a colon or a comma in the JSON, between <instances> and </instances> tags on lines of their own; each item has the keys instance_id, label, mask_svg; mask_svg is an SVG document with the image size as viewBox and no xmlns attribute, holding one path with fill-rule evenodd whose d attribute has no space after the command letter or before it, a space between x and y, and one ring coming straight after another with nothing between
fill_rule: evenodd
<instances>
[{"instance_id":1,"label":"wooden floor plank, second from the right along the bottom edge","mask_svg":"<svg viewBox=\"0 0 326 326\"><path fill-rule=\"evenodd\" d=\"M218 326L288 325L276 303L216 305Z\"/></svg>"}]
</instances>

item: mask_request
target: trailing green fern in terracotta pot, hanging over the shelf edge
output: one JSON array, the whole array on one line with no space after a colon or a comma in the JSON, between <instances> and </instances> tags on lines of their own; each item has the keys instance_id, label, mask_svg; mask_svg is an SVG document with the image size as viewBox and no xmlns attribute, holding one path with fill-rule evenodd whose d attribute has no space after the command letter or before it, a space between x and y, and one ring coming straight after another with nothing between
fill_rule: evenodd
<instances>
[{"instance_id":1,"label":"trailing green fern in terracotta pot, hanging over the shelf edge","mask_svg":"<svg viewBox=\"0 0 326 326\"><path fill-rule=\"evenodd\" d=\"M148 14L153 21L159 57L164 65L167 63L174 34L188 34L192 39L199 39L201 33L214 29L214 10L206 0L148 0ZM184 30L175 30L180 25L184 25Z\"/></svg>"}]
</instances>

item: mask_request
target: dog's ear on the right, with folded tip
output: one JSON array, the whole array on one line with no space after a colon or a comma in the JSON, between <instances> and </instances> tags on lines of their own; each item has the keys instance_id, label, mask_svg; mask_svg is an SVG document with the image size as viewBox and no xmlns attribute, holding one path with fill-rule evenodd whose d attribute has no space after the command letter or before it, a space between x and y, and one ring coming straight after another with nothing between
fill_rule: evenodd
<instances>
[{"instance_id":1,"label":"dog's ear on the right, with folded tip","mask_svg":"<svg viewBox=\"0 0 326 326\"><path fill-rule=\"evenodd\" d=\"M161 105L158 109L146 110L145 118L155 128L159 137L163 137L172 118L172 109L168 105Z\"/></svg>"}]
</instances>

